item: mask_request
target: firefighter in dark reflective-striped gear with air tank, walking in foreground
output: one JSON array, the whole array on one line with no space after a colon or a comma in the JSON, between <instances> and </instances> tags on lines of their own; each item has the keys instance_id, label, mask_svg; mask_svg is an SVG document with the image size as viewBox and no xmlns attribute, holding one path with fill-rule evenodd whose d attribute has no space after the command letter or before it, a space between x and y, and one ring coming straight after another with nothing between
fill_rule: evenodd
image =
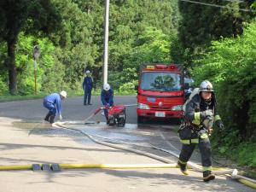
<instances>
[{"instance_id":1,"label":"firefighter in dark reflective-striped gear with air tank, walking in foreground","mask_svg":"<svg viewBox=\"0 0 256 192\"><path fill-rule=\"evenodd\" d=\"M222 120L216 110L216 99L212 84L205 80L200 88L195 88L183 106L184 122L178 130L180 141L183 143L177 165L184 175L188 175L187 162L193 154L195 144L199 145L203 181L208 182L215 178L212 174L212 149L209 134L213 122L219 129L224 129Z\"/></svg>"}]
</instances>

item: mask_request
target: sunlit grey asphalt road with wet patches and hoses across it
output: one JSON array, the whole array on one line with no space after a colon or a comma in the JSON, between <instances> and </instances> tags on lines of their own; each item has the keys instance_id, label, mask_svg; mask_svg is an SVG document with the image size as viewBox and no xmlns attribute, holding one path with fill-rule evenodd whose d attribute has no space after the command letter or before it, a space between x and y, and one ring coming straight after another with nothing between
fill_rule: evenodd
<instances>
[{"instance_id":1,"label":"sunlit grey asphalt road with wet patches and hoses across it","mask_svg":"<svg viewBox=\"0 0 256 192\"><path fill-rule=\"evenodd\" d=\"M116 104L136 103L136 96L115 96ZM91 106L83 105L82 97L67 98L63 102L65 120L83 120L101 107L99 96L92 97ZM160 148L175 151L181 148L177 133L172 131L177 122L149 121L137 126L134 107L127 108L127 125L124 128L100 125L68 125L89 134L122 140L141 145L129 148L160 155L173 163L176 157L148 148L154 144ZM44 123L47 109L42 100L0 103L0 165L20 165L32 163L102 163L102 164L148 164L160 163L142 155L109 148L90 141L78 132L53 128ZM92 120L105 121L99 113ZM127 147L126 144L124 146ZM200 155L192 159L200 163ZM144 170L70 170L59 173L10 171L0 172L0 192L9 191L255 191L247 186L218 176L211 183L203 183L200 172L190 172L183 176L178 169Z\"/></svg>"}]
</instances>

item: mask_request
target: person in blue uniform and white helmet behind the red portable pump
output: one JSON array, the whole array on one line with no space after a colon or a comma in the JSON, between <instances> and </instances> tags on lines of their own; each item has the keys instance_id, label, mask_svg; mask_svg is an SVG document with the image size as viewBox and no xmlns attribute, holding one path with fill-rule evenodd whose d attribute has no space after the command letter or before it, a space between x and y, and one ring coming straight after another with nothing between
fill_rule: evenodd
<instances>
[{"instance_id":1,"label":"person in blue uniform and white helmet behind the red portable pump","mask_svg":"<svg viewBox=\"0 0 256 192\"><path fill-rule=\"evenodd\" d=\"M102 104L106 107L106 109L104 109L104 114L105 114L107 124L108 124L109 120L108 120L108 109L107 108L113 106L113 90L110 88L109 84L103 85L101 99L102 99Z\"/></svg>"}]
</instances>

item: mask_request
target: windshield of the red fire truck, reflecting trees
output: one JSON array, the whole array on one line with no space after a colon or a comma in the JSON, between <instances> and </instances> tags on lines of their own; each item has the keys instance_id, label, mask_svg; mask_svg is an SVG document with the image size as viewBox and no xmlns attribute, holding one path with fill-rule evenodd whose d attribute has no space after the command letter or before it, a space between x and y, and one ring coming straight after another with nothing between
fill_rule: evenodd
<instances>
[{"instance_id":1,"label":"windshield of the red fire truck, reflecting trees","mask_svg":"<svg viewBox=\"0 0 256 192\"><path fill-rule=\"evenodd\" d=\"M140 89L156 91L181 90L181 77L177 73L144 72L141 78Z\"/></svg>"}]
</instances>

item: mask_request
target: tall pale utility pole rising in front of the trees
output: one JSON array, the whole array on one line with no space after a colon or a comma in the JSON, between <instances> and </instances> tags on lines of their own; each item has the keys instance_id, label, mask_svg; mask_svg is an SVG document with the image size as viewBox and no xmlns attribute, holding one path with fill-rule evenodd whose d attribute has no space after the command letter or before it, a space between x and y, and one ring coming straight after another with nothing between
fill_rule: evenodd
<instances>
[{"instance_id":1,"label":"tall pale utility pole rising in front of the trees","mask_svg":"<svg viewBox=\"0 0 256 192\"><path fill-rule=\"evenodd\" d=\"M103 84L108 83L108 17L109 17L109 0L105 0Z\"/></svg>"}]
</instances>

